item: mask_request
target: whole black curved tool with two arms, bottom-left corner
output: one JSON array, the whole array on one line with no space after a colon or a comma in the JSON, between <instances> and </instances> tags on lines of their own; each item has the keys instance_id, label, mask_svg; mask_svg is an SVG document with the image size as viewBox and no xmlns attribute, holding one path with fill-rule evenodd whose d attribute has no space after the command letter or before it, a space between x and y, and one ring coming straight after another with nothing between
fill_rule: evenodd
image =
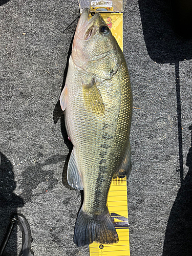
<instances>
[{"instance_id":1,"label":"whole black curved tool with two arms, bottom-left corner","mask_svg":"<svg viewBox=\"0 0 192 256\"><path fill-rule=\"evenodd\" d=\"M23 256L33 256L34 252L31 249L31 243L33 242L33 239L31 237L30 226L29 226L27 219L22 214L15 214L13 216L13 218L10 220L6 236L5 236L3 243L0 247L0 256L3 255L3 252L7 246L7 243L11 236L11 232L13 230L15 222L19 226L20 230L22 230L22 253L23 253Z\"/></svg>"}]
</instances>

